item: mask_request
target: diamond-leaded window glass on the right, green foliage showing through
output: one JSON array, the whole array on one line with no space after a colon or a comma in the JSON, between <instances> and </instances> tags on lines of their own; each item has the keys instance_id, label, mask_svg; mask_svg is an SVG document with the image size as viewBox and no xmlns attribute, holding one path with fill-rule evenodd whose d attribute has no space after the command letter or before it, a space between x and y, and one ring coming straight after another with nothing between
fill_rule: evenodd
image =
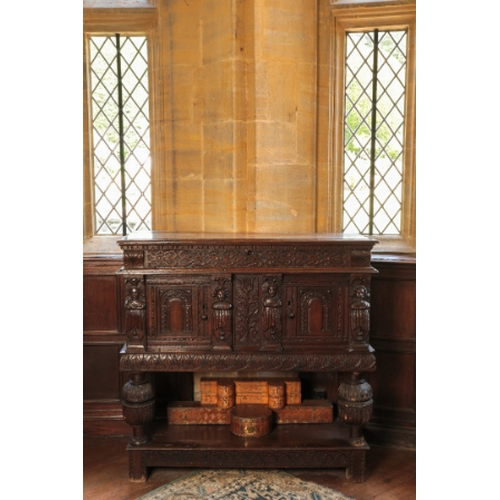
<instances>
[{"instance_id":1,"label":"diamond-leaded window glass on the right, green foliage showing through","mask_svg":"<svg viewBox=\"0 0 500 500\"><path fill-rule=\"evenodd\" d=\"M406 31L346 38L343 230L401 233Z\"/></svg>"}]
</instances>

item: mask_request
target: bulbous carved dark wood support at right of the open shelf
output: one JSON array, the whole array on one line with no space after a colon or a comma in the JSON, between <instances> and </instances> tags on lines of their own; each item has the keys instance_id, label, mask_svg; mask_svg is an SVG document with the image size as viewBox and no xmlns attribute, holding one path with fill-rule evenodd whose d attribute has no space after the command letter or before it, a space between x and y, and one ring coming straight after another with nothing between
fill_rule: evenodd
<instances>
[{"instance_id":1,"label":"bulbous carved dark wood support at right of the open shelf","mask_svg":"<svg viewBox=\"0 0 500 500\"><path fill-rule=\"evenodd\" d=\"M359 372L339 386L339 417L349 425L349 440L354 446L365 444L363 425L369 422L373 411L373 391Z\"/></svg>"}]
</instances>

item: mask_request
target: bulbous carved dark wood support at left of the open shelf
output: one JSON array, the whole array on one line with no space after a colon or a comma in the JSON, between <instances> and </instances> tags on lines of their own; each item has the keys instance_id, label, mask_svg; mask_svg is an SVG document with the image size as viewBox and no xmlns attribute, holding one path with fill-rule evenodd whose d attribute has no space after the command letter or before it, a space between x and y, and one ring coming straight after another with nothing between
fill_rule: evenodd
<instances>
[{"instance_id":1,"label":"bulbous carved dark wood support at left of the open shelf","mask_svg":"<svg viewBox=\"0 0 500 500\"><path fill-rule=\"evenodd\" d=\"M130 380L123 386L122 405L125 421L132 426L130 444L139 446L151 438L146 427L155 416L155 394L145 373L131 373Z\"/></svg>"}]
</instances>

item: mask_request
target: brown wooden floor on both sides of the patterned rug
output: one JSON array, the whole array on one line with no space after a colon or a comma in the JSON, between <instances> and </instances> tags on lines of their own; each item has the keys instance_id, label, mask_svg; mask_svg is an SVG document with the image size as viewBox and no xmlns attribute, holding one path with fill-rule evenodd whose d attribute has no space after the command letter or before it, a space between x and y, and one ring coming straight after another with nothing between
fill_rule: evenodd
<instances>
[{"instance_id":1,"label":"brown wooden floor on both sides of the patterned rug","mask_svg":"<svg viewBox=\"0 0 500 500\"><path fill-rule=\"evenodd\" d=\"M128 480L126 437L83 439L84 500L134 500L176 479L189 469L152 469L146 483ZM287 470L306 481L341 491L355 500L414 500L415 451L372 446L367 453L367 480L348 483L344 470Z\"/></svg>"}]
</instances>

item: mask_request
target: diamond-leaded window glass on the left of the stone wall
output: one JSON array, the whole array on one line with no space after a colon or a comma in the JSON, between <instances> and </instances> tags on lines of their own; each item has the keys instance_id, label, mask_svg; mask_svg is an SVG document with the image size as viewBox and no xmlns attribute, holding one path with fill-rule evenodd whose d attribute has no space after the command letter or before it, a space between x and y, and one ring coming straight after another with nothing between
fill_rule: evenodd
<instances>
[{"instance_id":1,"label":"diamond-leaded window glass on the left of the stone wall","mask_svg":"<svg viewBox=\"0 0 500 500\"><path fill-rule=\"evenodd\" d=\"M151 229L147 39L93 36L90 54L95 233Z\"/></svg>"}]
</instances>

